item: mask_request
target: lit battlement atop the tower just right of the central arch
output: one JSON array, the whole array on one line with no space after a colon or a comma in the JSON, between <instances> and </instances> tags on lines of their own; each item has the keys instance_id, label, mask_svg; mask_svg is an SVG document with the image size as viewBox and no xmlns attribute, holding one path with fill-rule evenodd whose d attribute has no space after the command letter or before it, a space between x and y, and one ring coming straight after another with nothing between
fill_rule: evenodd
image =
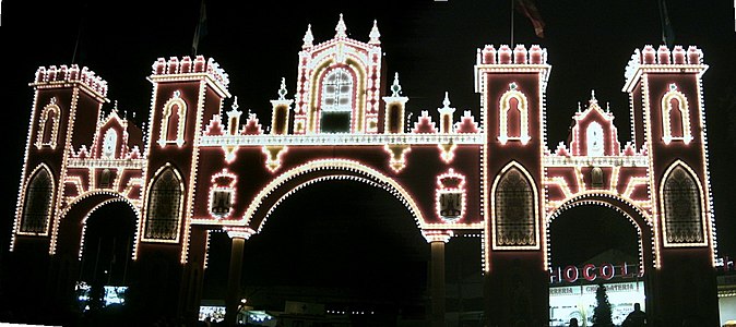
<instances>
[{"instance_id":1,"label":"lit battlement atop the tower just right of the central arch","mask_svg":"<svg viewBox=\"0 0 736 327\"><path fill-rule=\"evenodd\" d=\"M501 45L498 50L486 45L478 49L478 64L546 64L547 49L533 45L526 49L524 45L517 45L512 50L508 45Z\"/></svg>"}]
</instances>

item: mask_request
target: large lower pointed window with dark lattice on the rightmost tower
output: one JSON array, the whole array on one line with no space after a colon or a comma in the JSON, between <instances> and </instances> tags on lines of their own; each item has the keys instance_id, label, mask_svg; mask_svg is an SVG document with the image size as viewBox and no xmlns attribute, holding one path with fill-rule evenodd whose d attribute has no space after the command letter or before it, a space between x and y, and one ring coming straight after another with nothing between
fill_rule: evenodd
<instances>
[{"instance_id":1,"label":"large lower pointed window with dark lattice on the rightmost tower","mask_svg":"<svg viewBox=\"0 0 736 327\"><path fill-rule=\"evenodd\" d=\"M701 193L696 179L677 165L666 175L662 193L667 243L702 243Z\"/></svg>"}]
</instances>

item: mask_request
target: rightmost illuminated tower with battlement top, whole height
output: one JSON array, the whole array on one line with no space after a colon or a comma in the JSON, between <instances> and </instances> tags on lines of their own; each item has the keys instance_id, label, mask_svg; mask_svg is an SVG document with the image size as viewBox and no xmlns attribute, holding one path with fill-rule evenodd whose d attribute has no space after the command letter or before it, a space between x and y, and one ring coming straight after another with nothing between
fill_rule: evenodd
<instances>
[{"instance_id":1,"label":"rightmost illuminated tower with battlement top, whole height","mask_svg":"<svg viewBox=\"0 0 736 327\"><path fill-rule=\"evenodd\" d=\"M653 294L673 299L648 313L672 322L691 313L716 325L716 242L701 80L707 69L695 46L645 46L631 56L624 92L631 99L632 137L649 157L657 250Z\"/></svg>"}]
</instances>

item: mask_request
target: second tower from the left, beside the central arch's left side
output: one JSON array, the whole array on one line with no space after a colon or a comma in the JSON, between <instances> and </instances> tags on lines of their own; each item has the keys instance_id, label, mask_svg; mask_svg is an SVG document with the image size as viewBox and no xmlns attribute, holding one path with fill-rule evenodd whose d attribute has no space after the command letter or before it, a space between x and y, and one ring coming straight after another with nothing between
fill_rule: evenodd
<instances>
[{"instance_id":1,"label":"second tower from the left, beside the central arch's left side","mask_svg":"<svg viewBox=\"0 0 736 327\"><path fill-rule=\"evenodd\" d=\"M197 168L202 165L197 144L204 118L219 117L223 99L230 96L229 80L212 58L197 56L159 58L149 81L147 165L134 254L139 274L145 276L142 307L174 313L177 303L168 299L181 294L177 298L188 304L179 303L179 310L195 311L198 292L191 288L201 288L206 243L206 231L190 226Z\"/></svg>"}]
</instances>

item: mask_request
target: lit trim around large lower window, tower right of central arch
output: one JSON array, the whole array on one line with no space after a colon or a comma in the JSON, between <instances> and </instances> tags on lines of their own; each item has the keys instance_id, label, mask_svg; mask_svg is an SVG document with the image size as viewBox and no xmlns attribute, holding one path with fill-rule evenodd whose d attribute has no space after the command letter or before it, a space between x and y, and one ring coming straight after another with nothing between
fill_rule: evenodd
<instances>
[{"instance_id":1,"label":"lit trim around large lower window, tower right of central arch","mask_svg":"<svg viewBox=\"0 0 736 327\"><path fill-rule=\"evenodd\" d=\"M496 208L496 192L498 191L498 184L501 181L503 177L506 177L506 173L511 170L511 169L517 169L522 173L522 177L526 179L526 182L529 185L532 187L532 197L533 197L533 222L534 226L532 227L534 229L534 245L525 245L525 246L504 246L504 245L497 245L497 240L496 240L496 210L491 209L489 210L490 213L490 223L486 223L486 226L490 225L491 226L491 246L494 250L539 250L541 244L539 244L539 193L536 186L536 183L534 182L534 179L532 175L529 173L529 171L521 166L517 161L511 161L501 171L496 175L496 179L494 180L494 185L491 186L490 190L490 207ZM486 231L487 232L487 231ZM486 257L486 263L489 263L490 258Z\"/></svg>"}]
</instances>

